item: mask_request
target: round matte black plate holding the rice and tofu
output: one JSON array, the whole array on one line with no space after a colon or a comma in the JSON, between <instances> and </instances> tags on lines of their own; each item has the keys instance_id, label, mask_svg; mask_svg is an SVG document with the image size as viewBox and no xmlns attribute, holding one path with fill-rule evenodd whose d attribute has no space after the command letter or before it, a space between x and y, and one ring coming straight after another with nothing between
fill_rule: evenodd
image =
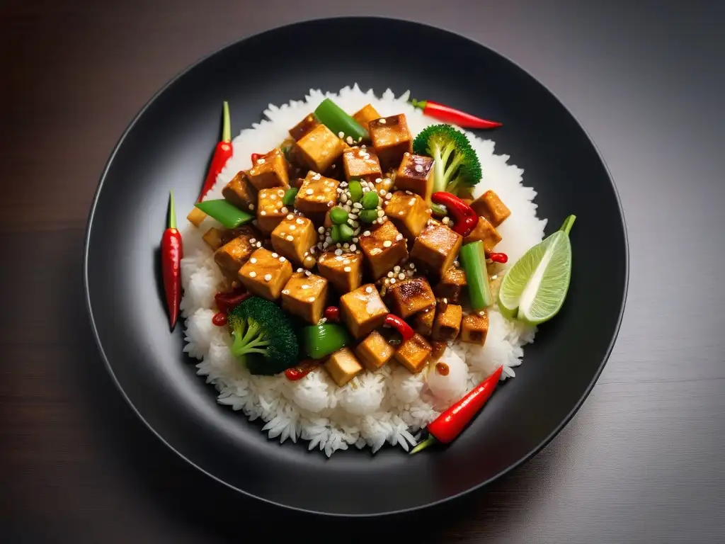
<instances>
[{"instance_id":1,"label":"round matte black plate holding the rice and tofu","mask_svg":"<svg viewBox=\"0 0 725 544\"><path fill-rule=\"evenodd\" d=\"M366 40L350 49L351 36ZM394 36L394 39L389 39ZM386 37L386 38L382 38ZM399 44L399 46L395 46ZM405 46L404 46L405 44ZM357 51L357 52L356 52ZM425 52L426 57L418 58ZM268 62L260 62L268 59ZM215 390L169 334L157 250L170 189L191 207L220 133L220 104L234 132L270 102L352 83L381 93L455 104L500 120L498 153L526 170L547 233L566 215L572 231L568 300L526 348L517 377L496 392L447 449L409 457L384 448L328 460L306 443L268 440L259 422L218 405ZM587 133L558 99L500 54L411 22L345 18L303 22L239 41L171 81L133 120L101 178L88 221L88 309L107 368L138 416L178 455L243 493L327 514L419 508L491 482L537 453L592 389L620 323L627 246L616 190ZM123 440L123 437L119 437Z\"/></svg>"}]
</instances>

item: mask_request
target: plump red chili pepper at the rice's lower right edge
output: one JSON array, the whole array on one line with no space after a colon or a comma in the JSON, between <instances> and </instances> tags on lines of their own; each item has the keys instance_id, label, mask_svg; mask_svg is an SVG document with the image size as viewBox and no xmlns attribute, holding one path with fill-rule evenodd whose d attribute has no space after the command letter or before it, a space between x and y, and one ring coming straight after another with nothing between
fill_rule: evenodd
<instances>
[{"instance_id":1,"label":"plump red chili pepper at the rice's lower right edge","mask_svg":"<svg viewBox=\"0 0 725 544\"><path fill-rule=\"evenodd\" d=\"M473 387L473 390L468 392L468 395L465 395L465 397L429 423L428 438L415 446L410 453L418 453L436 442L447 444L455 440L471 419L481 411L481 408L486 404L486 400L489 400L501 378L502 370L502 366L497 368L491 376L484 379L476 387Z\"/></svg>"}]
</instances>

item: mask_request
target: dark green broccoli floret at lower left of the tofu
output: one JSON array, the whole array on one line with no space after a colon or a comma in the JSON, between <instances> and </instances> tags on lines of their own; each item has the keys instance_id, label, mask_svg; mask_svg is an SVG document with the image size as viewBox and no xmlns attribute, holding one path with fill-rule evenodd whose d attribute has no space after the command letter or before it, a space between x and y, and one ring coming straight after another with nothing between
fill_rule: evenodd
<instances>
[{"instance_id":1,"label":"dark green broccoli floret at lower left of the tofu","mask_svg":"<svg viewBox=\"0 0 725 544\"><path fill-rule=\"evenodd\" d=\"M291 322L274 302L250 297L229 312L231 352L252 374L278 374L298 362L299 343Z\"/></svg>"}]
</instances>

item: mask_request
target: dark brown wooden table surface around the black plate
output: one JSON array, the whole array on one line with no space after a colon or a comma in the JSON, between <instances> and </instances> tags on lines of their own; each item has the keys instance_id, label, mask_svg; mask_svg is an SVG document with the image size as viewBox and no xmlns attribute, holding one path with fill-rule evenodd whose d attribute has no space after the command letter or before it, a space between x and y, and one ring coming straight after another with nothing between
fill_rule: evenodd
<instances>
[{"instance_id":1,"label":"dark brown wooden table surface around the black plate","mask_svg":"<svg viewBox=\"0 0 725 544\"><path fill-rule=\"evenodd\" d=\"M324 542L721 542L724 4L303 4L0 3L0 540L239 542L269 524ZM105 373L81 284L96 182L146 100L237 38L351 14L456 30L549 86L607 160L631 244L621 334L566 429L481 493L362 523L261 506L174 456Z\"/></svg>"}]
</instances>

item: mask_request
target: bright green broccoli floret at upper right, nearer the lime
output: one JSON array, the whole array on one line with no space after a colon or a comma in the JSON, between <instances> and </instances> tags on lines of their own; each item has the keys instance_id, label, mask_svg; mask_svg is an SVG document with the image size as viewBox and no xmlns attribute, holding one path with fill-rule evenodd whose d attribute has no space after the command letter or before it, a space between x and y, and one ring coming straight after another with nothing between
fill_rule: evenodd
<instances>
[{"instance_id":1,"label":"bright green broccoli floret at upper right, nearer the lime","mask_svg":"<svg viewBox=\"0 0 725 544\"><path fill-rule=\"evenodd\" d=\"M451 125L431 125L413 140L413 151L433 157L433 192L457 194L481 181L481 162L464 133Z\"/></svg>"}]
</instances>

